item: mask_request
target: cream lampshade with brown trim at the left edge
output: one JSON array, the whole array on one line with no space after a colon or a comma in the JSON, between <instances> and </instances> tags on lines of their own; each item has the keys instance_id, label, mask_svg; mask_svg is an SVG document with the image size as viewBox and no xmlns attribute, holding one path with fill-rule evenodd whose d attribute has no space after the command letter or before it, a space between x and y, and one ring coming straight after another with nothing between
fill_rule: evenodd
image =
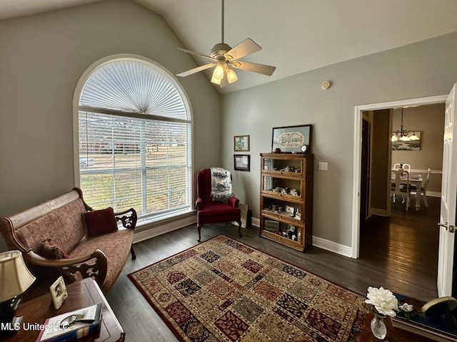
<instances>
[{"instance_id":1,"label":"cream lampshade with brown trim at the left edge","mask_svg":"<svg viewBox=\"0 0 457 342\"><path fill-rule=\"evenodd\" d=\"M23 294L35 279L27 269L21 252L0 253L0 302Z\"/></svg>"}]
</instances>

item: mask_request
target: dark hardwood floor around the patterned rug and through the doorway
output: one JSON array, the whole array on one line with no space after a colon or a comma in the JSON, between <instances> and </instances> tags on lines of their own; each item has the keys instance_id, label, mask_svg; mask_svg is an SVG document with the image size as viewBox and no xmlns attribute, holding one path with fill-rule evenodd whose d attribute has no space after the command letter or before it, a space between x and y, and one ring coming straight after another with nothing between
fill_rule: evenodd
<instances>
[{"instance_id":1,"label":"dark hardwood floor around the patterned rug and through the doorway","mask_svg":"<svg viewBox=\"0 0 457 342\"><path fill-rule=\"evenodd\" d=\"M394 204L392 217L373 217L361 232L360 259L310 247L301 253L258 236L257 227L243 229L240 239L251 247L272 254L341 286L366 294L368 286L429 300L436 294L439 199L429 198L429 207L406 212ZM238 239L235 226L213 224L201 231L202 241L218 234ZM137 258L126 263L107 299L126 331L126 341L178 341L164 321L149 306L127 274L194 246L196 227L189 226L135 244Z\"/></svg>"}]
</instances>

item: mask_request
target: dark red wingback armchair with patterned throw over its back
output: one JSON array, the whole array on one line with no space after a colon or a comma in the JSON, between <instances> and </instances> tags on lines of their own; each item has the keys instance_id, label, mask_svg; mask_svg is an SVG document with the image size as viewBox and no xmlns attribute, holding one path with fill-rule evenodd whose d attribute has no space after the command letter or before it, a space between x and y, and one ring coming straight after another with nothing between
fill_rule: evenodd
<instances>
[{"instance_id":1,"label":"dark red wingback armchair with patterned throw over its back","mask_svg":"<svg viewBox=\"0 0 457 342\"><path fill-rule=\"evenodd\" d=\"M220 167L211 167L197 174L197 229L199 242L201 227L208 223L238 222L241 237L239 199L231 192L231 174Z\"/></svg>"}]
</instances>

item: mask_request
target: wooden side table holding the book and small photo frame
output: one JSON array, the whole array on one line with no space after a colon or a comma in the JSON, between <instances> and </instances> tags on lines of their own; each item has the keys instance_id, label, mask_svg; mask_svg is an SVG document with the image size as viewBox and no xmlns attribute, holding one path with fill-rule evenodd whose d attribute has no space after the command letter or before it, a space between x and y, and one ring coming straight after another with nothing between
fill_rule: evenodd
<instances>
[{"instance_id":1,"label":"wooden side table holding the book and small photo frame","mask_svg":"<svg viewBox=\"0 0 457 342\"><path fill-rule=\"evenodd\" d=\"M7 338L0 339L0 341L36 341L40 330L39 328L34 328L34 326L43 324L44 321L46 321L46 318L98 303L103 305L100 333L84 336L83 338L79 338L78 341L124 341L124 329L121 327L121 324L117 320L108 301L106 301L104 294L101 292L99 285L94 279L86 278L82 281L77 281L76 283L66 286L66 289L69 296L58 310L54 309L51 294L44 294L43 296L21 303L19 309L16 311L16 316L23 316L21 329Z\"/></svg>"}]
</instances>

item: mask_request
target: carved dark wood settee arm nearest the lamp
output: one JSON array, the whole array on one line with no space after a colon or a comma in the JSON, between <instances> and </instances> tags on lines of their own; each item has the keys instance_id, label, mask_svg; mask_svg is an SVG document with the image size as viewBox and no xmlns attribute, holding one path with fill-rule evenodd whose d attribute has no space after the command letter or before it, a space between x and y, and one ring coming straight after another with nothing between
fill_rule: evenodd
<instances>
[{"instance_id":1,"label":"carved dark wood settee arm nearest the lamp","mask_svg":"<svg viewBox=\"0 0 457 342\"><path fill-rule=\"evenodd\" d=\"M24 252L24 259L36 266L54 267L61 274L69 276L71 279L76 279L76 273L81 274L82 279L92 277L96 280L99 286L103 286L106 278L106 269L108 262L104 252L97 249L95 252L84 257L69 258L69 259L46 259L39 254L29 250ZM90 263L88 261L91 261Z\"/></svg>"}]
</instances>

